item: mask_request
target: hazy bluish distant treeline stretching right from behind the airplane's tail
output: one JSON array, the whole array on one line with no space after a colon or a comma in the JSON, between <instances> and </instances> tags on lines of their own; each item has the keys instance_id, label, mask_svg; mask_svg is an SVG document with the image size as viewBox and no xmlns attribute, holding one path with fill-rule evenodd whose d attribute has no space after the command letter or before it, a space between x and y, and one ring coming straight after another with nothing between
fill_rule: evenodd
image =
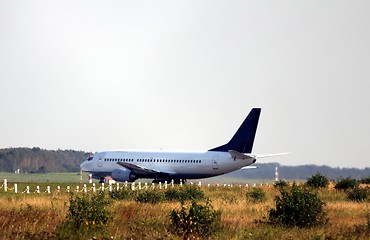
<instances>
[{"instance_id":1,"label":"hazy bluish distant treeline stretching right from behind the airplane's tail","mask_svg":"<svg viewBox=\"0 0 370 240\"><path fill-rule=\"evenodd\" d=\"M256 169L238 170L227 176L235 178L251 178L251 179L275 179L276 163L259 163L254 164ZM329 180L337 180L338 178L351 177L360 180L370 176L370 168L332 168L329 166L317 165L301 165L301 166L284 166L278 164L279 179L302 179L305 180L317 172L326 176Z\"/></svg>"}]
</instances>

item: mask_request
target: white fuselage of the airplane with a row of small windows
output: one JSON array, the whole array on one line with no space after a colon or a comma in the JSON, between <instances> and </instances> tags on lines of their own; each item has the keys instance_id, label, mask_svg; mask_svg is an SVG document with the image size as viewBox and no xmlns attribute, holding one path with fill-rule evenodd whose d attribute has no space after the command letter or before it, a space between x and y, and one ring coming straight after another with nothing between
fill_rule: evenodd
<instances>
[{"instance_id":1,"label":"white fuselage of the airplane with a row of small windows","mask_svg":"<svg viewBox=\"0 0 370 240\"><path fill-rule=\"evenodd\" d=\"M81 164L95 177L109 176L124 169L117 162L127 162L145 169L167 173L174 178L198 179L217 176L251 165L255 159L234 159L228 152L105 151ZM144 177L145 176L141 176Z\"/></svg>"}]
</instances>

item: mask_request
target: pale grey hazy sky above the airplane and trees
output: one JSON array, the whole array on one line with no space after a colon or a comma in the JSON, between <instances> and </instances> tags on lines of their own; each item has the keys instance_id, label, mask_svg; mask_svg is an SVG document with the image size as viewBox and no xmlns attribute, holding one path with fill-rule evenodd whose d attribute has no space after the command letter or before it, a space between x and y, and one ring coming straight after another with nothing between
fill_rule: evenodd
<instances>
[{"instance_id":1,"label":"pale grey hazy sky above the airplane and trees","mask_svg":"<svg viewBox=\"0 0 370 240\"><path fill-rule=\"evenodd\" d=\"M370 1L0 0L0 148L370 167Z\"/></svg>"}]
</instances>

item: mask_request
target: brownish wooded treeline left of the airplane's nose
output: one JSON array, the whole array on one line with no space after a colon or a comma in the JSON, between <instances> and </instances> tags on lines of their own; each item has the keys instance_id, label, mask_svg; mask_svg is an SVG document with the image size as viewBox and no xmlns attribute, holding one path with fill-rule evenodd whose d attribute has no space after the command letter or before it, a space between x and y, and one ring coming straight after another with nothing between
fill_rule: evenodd
<instances>
[{"instance_id":1,"label":"brownish wooded treeline left of the airplane's nose","mask_svg":"<svg viewBox=\"0 0 370 240\"><path fill-rule=\"evenodd\" d=\"M75 150L34 148L0 149L0 172L78 172L91 153Z\"/></svg>"}]
</instances>

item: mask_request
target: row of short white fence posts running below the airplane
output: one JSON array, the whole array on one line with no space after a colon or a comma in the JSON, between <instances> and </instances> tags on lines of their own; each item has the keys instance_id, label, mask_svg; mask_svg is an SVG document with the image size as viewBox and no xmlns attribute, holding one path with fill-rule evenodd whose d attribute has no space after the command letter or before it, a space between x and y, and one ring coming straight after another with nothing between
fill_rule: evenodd
<instances>
[{"instance_id":1,"label":"row of short white fence posts running below the airplane","mask_svg":"<svg viewBox=\"0 0 370 240\"><path fill-rule=\"evenodd\" d=\"M195 185L193 182L190 182L190 185ZM202 187L202 182L198 182L196 184L197 186L199 187ZM183 183L180 182L179 184L179 187L182 187L183 186ZM234 185L234 184L207 184L206 185L208 188L210 188L211 186L215 186L215 187L224 187L224 188L232 188L232 187L239 187L239 188L242 188L242 187L257 187L257 186L272 186L272 184L269 184L269 183L260 183L260 184L245 184L245 185ZM128 182L124 182L124 183L101 183L101 184L96 184L96 183L89 183L89 184L83 184L83 186L80 188L80 185L76 185L74 189L71 188L71 186L67 186L65 189L62 189L61 186L57 186L55 190L53 190L53 192L57 192L57 193L61 193L61 192L66 192L66 193L69 193L69 192L82 192L82 193L87 193L87 192L96 192L96 191L118 191L120 190L121 188L128 188L128 189L131 189L132 191L135 191L135 190L148 190L148 189L167 189L168 187L174 187L174 182L172 181L171 183L167 183L167 181L165 181L163 184L160 182L158 184L155 184L155 183L152 183L151 185L148 184L148 183L144 183L142 184L141 182L138 182L138 183L128 183ZM31 190L30 189L30 186L26 186L26 188L22 191L22 190L19 190L18 188L18 184L17 183L13 183L13 187L9 187L9 183L7 181L7 179L4 179L3 181L3 184L1 185L0 187L0 190L3 190L4 192L14 192L14 193L26 193L26 194L30 194L30 193L47 193L47 194L51 194L52 193L52 190L51 190L51 187L50 186L46 186L46 189L45 190L41 190L40 186L37 185L35 190Z\"/></svg>"}]
</instances>

